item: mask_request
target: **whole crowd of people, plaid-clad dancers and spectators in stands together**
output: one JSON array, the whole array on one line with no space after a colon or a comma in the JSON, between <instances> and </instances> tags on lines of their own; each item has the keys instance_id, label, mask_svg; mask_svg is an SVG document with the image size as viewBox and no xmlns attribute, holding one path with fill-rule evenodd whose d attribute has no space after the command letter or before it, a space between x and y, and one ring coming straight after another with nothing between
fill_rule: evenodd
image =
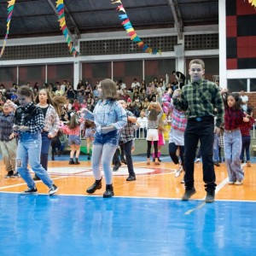
<instances>
[{"instance_id":1,"label":"whole crowd of people, plaid-clad dancers and spectators in stands together","mask_svg":"<svg viewBox=\"0 0 256 256\"><path fill-rule=\"evenodd\" d=\"M217 84L204 79L204 73L204 62L195 59L189 63L189 84L183 73L175 71L172 82L167 77L148 82L135 78L131 86L111 79L96 81L94 85L80 80L75 89L67 80L42 86L13 84L9 90L1 84L0 146L7 171L5 177L21 176L28 186L23 195L38 193L34 183L38 179L49 187L49 195L54 195L58 188L47 172L49 147L52 145L52 160L55 160L55 154L63 150L63 137L66 137L71 149L69 164L79 165L82 137L86 138L87 158L91 160L96 179L86 192L93 194L102 188L102 165L106 179L103 197L112 197L112 175L122 163L129 172L126 181L136 180L131 156L135 138L147 141L147 164L151 164L153 145L152 160L154 165L160 165L166 122L171 121L168 150L177 165L176 177L184 172L183 200L195 194L194 162L200 143L206 201L214 201L214 164L219 166L222 159L220 143L223 141L229 183L241 185L244 150L250 166L248 150L254 119L244 93L240 96L220 90ZM27 168L28 163L35 172L34 177Z\"/></svg>"}]
</instances>

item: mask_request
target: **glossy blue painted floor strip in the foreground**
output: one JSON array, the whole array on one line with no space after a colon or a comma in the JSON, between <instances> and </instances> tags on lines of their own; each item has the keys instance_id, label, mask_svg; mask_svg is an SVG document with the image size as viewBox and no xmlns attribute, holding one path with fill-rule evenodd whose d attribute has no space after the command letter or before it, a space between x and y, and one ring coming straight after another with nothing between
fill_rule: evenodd
<instances>
[{"instance_id":1,"label":"glossy blue painted floor strip in the foreground","mask_svg":"<svg viewBox=\"0 0 256 256\"><path fill-rule=\"evenodd\" d=\"M255 210L241 201L0 193L0 255L255 255Z\"/></svg>"}]
</instances>

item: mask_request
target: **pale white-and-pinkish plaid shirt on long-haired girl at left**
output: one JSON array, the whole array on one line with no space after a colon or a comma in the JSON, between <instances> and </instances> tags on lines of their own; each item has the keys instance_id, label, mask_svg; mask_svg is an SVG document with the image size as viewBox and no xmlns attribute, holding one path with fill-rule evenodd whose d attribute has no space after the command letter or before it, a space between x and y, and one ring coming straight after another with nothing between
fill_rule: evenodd
<instances>
[{"instance_id":1,"label":"pale white-and-pinkish plaid shirt on long-haired girl at left","mask_svg":"<svg viewBox=\"0 0 256 256\"><path fill-rule=\"evenodd\" d=\"M59 131L59 127L60 119L58 113L53 106L49 105L44 119L44 131L48 131L49 135L55 137Z\"/></svg>"}]
</instances>

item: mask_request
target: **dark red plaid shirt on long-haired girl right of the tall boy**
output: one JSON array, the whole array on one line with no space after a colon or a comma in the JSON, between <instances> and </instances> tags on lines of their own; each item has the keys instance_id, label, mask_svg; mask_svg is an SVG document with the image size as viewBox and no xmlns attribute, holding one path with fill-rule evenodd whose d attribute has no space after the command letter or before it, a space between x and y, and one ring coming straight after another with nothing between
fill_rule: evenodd
<instances>
[{"instance_id":1,"label":"dark red plaid shirt on long-haired girl right of the tall boy","mask_svg":"<svg viewBox=\"0 0 256 256\"><path fill-rule=\"evenodd\" d=\"M225 108L224 127L225 130L235 130L243 123L246 116L241 109L227 107Z\"/></svg>"}]
</instances>

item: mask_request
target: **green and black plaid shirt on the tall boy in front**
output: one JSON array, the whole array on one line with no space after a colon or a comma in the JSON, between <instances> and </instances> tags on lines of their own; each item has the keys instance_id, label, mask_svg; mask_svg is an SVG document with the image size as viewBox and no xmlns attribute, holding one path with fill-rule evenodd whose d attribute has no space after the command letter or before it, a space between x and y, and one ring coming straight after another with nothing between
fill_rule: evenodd
<instances>
[{"instance_id":1,"label":"green and black plaid shirt on the tall boy in front","mask_svg":"<svg viewBox=\"0 0 256 256\"><path fill-rule=\"evenodd\" d=\"M184 85L181 98L173 99L173 105L177 110L186 111L188 119L204 116L213 117L213 110L217 108L216 126L219 127L224 121L224 103L218 86L205 79Z\"/></svg>"}]
</instances>

